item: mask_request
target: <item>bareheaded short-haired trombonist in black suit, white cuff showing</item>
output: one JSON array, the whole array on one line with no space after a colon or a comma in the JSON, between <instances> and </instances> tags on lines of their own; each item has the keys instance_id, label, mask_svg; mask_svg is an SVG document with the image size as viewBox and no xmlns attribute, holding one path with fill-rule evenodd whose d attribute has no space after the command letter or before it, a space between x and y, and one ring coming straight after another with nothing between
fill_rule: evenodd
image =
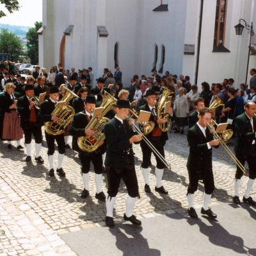
<instances>
[{"instance_id":1,"label":"bareheaded short-haired trombonist in black suit, white cuff showing","mask_svg":"<svg viewBox=\"0 0 256 256\"><path fill-rule=\"evenodd\" d=\"M204 206L202 214L209 218L217 218L217 215L209 208L212 192L214 191L214 177L212 173L212 147L219 147L220 140L214 140L212 133L207 129L211 121L211 110L209 108L200 109L198 122L188 130L188 214L191 218L198 218L193 205L194 193L198 188L199 177L204 181ZM213 132L213 131L212 131Z\"/></svg>"}]
</instances>

